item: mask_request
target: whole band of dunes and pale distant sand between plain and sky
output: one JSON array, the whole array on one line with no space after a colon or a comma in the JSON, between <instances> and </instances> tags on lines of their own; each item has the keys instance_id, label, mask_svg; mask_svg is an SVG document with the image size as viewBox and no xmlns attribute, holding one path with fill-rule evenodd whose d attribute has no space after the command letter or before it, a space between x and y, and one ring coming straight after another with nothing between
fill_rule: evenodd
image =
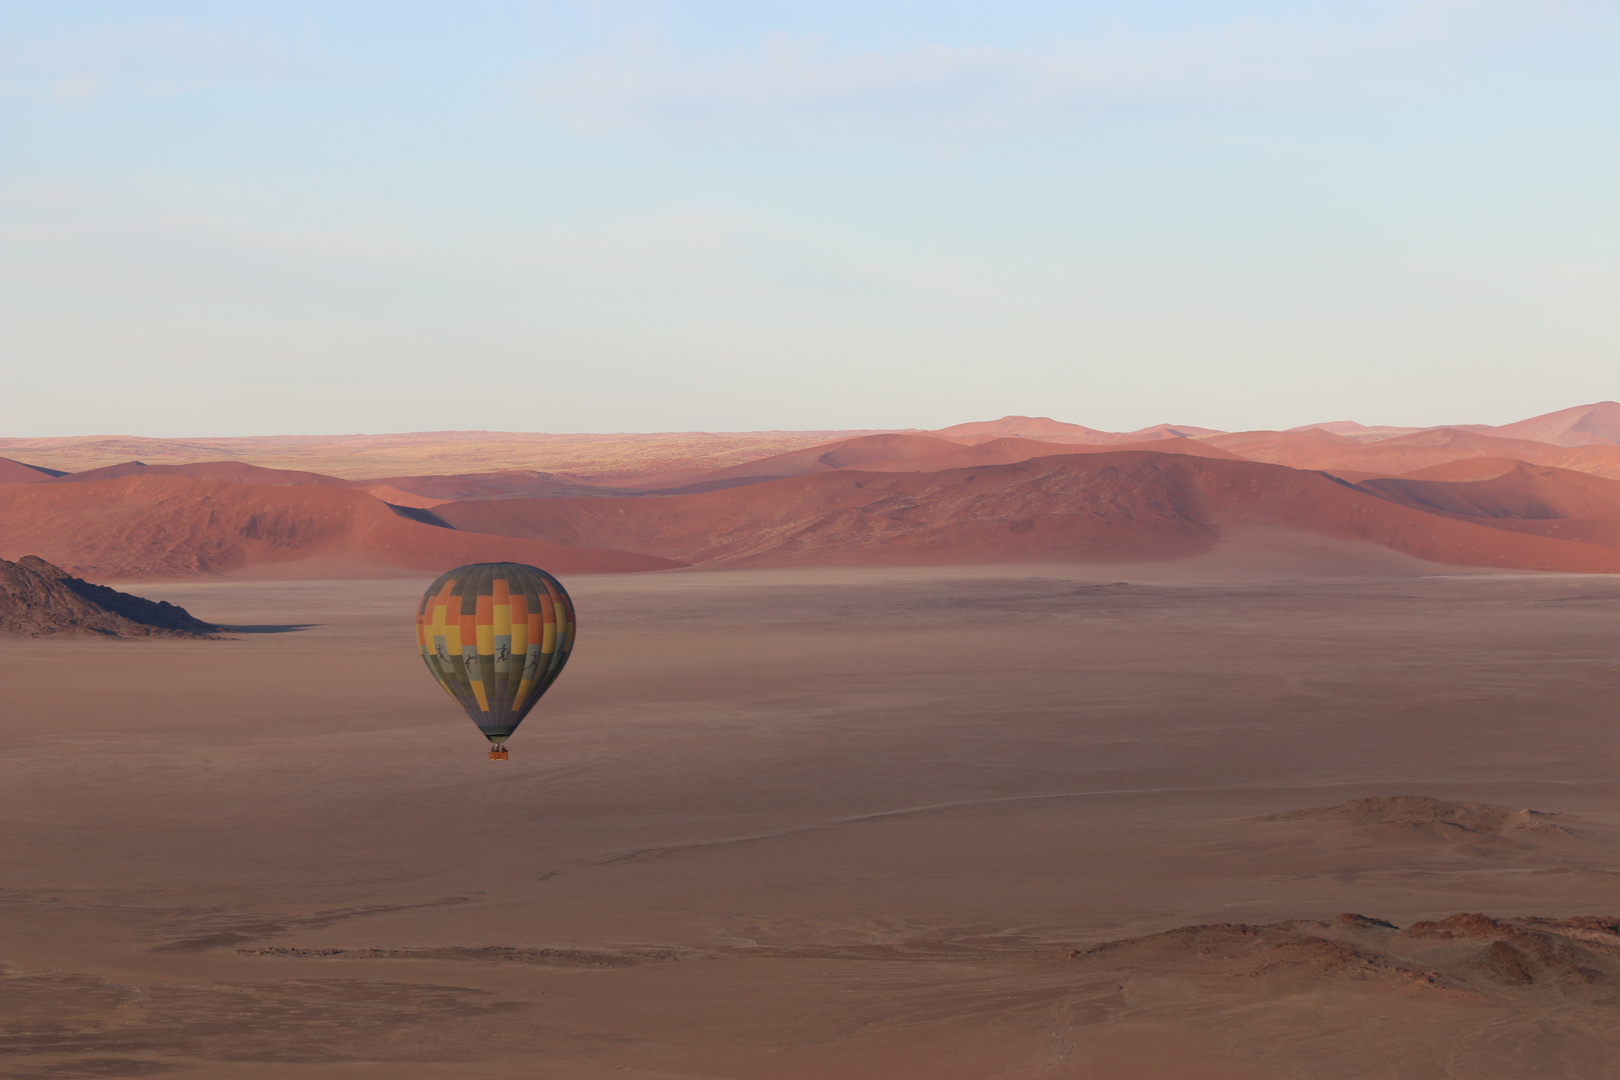
<instances>
[{"instance_id":1,"label":"whole band of dunes and pale distant sand between plain and sky","mask_svg":"<svg viewBox=\"0 0 1620 1080\"><path fill-rule=\"evenodd\" d=\"M144 457L97 457L130 449ZM225 449L253 460L219 460ZM97 580L483 560L561 573L1140 562L1256 529L1456 567L1620 573L1615 402L1500 427L1105 432L1006 416L933 432L76 437L0 450L29 458L0 458L0 557L39 554Z\"/></svg>"}]
</instances>

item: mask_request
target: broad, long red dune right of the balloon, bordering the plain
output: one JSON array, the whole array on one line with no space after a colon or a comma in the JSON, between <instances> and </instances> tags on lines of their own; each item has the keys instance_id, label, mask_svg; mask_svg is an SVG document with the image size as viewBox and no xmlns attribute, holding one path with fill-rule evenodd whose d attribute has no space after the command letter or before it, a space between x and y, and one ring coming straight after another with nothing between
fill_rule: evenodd
<instances>
[{"instance_id":1,"label":"broad, long red dune right of the balloon, bordering the plain","mask_svg":"<svg viewBox=\"0 0 1620 1080\"><path fill-rule=\"evenodd\" d=\"M1400 505L1320 473L1149 452L941 473L838 470L650 499L505 499L436 515L481 533L693 563L1176 559L1270 526L1473 567L1620 572L1620 552Z\"/></svg>"}]
</instances>

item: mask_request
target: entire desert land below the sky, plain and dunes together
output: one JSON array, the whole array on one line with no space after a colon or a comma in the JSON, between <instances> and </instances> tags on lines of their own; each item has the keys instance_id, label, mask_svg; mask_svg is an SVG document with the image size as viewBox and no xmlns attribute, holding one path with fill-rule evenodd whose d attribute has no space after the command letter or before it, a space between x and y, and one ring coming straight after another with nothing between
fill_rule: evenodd
<instances>
[{"instance_id":1,"label":"entire desert land below the sky, plain and dunes together","mask_svg":"<svg viewBox=\"0 0 1620 1080\"><path fill-rule=\"evenodd\" d=\"M1620 1077L1620 403L0 450L0 1077Z\"/></svg>"}]
</instances>

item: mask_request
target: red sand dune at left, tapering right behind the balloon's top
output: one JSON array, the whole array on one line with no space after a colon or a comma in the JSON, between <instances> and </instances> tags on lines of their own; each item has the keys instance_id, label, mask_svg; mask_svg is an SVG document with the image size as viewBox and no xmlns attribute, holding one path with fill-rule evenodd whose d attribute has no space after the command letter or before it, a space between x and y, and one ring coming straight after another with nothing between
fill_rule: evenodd
<instances>
[{"instance_id":1,"label":"red sand dune at left, tapering right behind the balloon's top","mask_svg":"<svg viewBox=\"0 0 1620 1080\"><path fill-rule=\"evenodd\" d=\"M37 554L94 580L259 572L442 570L518 560L559 573L674 563L426 525L350 487L220 484L130 476L79 484L0 484L0 557ZM306 563L300 568L296 563Z\"/></svg>"}]
</instances>

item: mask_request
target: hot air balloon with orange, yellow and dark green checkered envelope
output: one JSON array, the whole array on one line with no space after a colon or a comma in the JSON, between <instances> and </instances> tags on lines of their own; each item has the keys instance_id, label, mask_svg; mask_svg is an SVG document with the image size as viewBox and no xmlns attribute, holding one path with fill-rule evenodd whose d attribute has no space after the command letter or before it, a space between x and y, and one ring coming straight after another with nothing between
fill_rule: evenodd
<instances>
[{"instance_id":1,"label":"hot air balloon with orange, yellow and dark green checkered envelope","mask_svg":"<svg viewBox=\"0 0 1620 1080\"><path fill-rule=\"evenodd\" d=\"M428 586L416 610L421 659L505 761L505 740L573 648L573 602L520 562L475 562Z\"/></svg>"}]
</instances>

